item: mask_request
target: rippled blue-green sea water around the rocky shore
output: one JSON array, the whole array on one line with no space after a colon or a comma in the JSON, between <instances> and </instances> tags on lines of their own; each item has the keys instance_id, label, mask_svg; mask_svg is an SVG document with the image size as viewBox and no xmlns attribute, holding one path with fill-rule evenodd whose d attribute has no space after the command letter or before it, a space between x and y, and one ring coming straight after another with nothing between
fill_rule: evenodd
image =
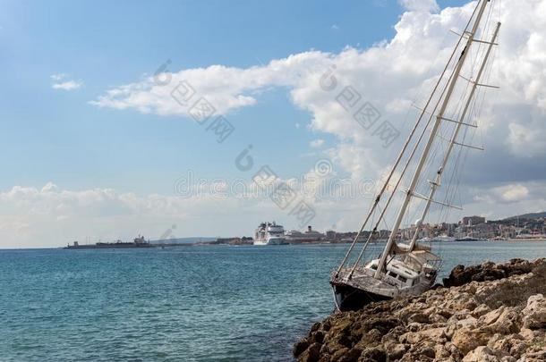
<instances>
[{"instance_id":1,"label":"rippled blue-green sea water around the rocky shore","mask_svg":"<svg viewBox=\"0 0 546 362\"><path fill-rule=\"evenodd\" d=\"M0 250L0 360L286 361L346 245ZM456 264L546 243L441 243Z\"/></svg>"}]
</instances>

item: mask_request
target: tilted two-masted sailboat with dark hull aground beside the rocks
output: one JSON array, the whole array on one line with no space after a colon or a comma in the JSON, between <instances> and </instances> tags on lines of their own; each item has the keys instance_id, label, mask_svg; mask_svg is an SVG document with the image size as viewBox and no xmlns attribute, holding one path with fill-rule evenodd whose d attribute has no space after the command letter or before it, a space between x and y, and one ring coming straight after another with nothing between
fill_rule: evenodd
<instances>
[{"instance_id":1,"label":"tilted two-masted sailboat with dark hull aground beside the rocks","mask_svg":"<svg viewBox=\"0 0 546 362\"><path fill-rule=\"evenodd\" d=\"M360 231L331 274L330 284L340 310L358 309L372 301L419 295L433 286L439 274L441 258L431 251L430 246L417 240L432 205L461 209L435 198L446 170L451 168L454 174L457 172L463 150L483 150L465 143L465 139L468 130L477 128L472 118L478 115L480 89L498 88L482 83L490 69L488 60L492 49L498 45L500 22L489 24L492 3L494 1L480 0L465 30L457 34L456 46L431 96L424 106L418 108L420 116L371 203ZM484 19L486 21L482 24ZM420 156L416 157L418 154ZM452 158L457 160L455 165L449 163ZM431 175L431 180L426 179L427 175ZM408 182L407 188L402 187L403 181ZM421 189L425 191L420 193ZM379 257L365 261L366 249L382 238L378 228L385 222L388 210L394 208L395 194L402 195L402 200L398 210L391 211L395 217L388 240ZM410 207L415 205L419 206L417 215L420 217L413 225L413 238L402 242L402 223L407 219ZM371 232L365 242L360 242L363 245L357 252L356 245L362 240L361 235L367 226L372 226L368 229Z\"/></svg>"}]
</instances>

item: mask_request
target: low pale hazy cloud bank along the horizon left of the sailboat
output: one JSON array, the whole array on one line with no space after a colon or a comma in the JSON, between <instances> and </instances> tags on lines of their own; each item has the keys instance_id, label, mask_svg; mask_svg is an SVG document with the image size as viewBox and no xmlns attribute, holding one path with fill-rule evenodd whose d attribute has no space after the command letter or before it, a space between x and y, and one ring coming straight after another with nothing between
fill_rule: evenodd
<instances>
[{"instance_id":1,"label":"low pale hazy cloud bank along the horizon left of the sailboat","mask_svg":"<svg viewBox=\"0 0 546 362\"><path fill-rule=\"evenodd\" d=\"M262 215L287 229L299 227L300 221L289 215L290 208L281 209L271 201L274 185L262 189L252 181L202 180L197 176L185 175L170 195L70 190L53 182L41 188L14 186L0 191L0 248L60 247L74 240L131 240L139 233L154 240L174 224L177 237L252 235L254 223L261 222ZM319 175L316 170L299 178L278 179L276 184L283 182L313 207L316 217L312 224L320 227L337 219L333 206L339 199L371 198L373 189L372 183L353 184L337 178L335 172Z\"/></svg>"}]
</instances>

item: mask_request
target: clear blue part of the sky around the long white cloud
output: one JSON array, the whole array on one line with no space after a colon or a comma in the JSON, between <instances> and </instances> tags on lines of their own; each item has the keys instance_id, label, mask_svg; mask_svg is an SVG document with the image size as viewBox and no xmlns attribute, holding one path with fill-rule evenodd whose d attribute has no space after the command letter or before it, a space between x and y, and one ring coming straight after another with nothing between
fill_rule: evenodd
<instances>
[{"instance_id":1,"label":"clear blue part of the sky around the long white cloud","mask_svg":"<svg viewBox=\"0 0 546 362\"><path fill-rule=\"evenodd\" d=\"M247 143L260 142L256 157L279 173L304 172L317 137L305 127L310 115L291 105L283 89L267 92L257 106L230 114L237 137L218 145L180 117L98 109L90 100L167 59L173 71L249 67L310 49L371 46L394 35L403 11L394 1L0 4L0 188L54 181L66 189L160 193L170 192L186 169L236 177L233 156ZM58 73L83 86L52 89L50 76Z\"/></svg>"}]
</instances>

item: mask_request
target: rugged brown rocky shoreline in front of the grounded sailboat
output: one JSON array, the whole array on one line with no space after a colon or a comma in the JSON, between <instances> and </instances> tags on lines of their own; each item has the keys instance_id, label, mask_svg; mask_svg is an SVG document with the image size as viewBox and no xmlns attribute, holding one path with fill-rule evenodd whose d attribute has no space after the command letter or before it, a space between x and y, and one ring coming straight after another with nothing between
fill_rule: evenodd
<instances>
[{"instance_id":1,"label":"rugged brown rocky shoreline in front of the grounded sailboat","mask_svg":"<svg viewBox=\"0 0 546 362\"><path fill-rule=\"evenodd\" d=\"M313 324L305 362L546 361L546 259L457 265L444 286Z\"/></svg>"}]
</instances>

